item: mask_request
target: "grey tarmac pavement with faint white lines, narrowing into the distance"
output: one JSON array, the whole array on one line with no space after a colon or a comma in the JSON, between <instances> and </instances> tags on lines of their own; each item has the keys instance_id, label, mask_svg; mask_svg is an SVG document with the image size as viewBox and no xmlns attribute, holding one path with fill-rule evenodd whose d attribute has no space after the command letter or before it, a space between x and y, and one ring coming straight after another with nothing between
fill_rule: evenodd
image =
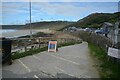
<instances>
[{"instance_id":1,"label":"grey tarmac pavement with faint white lines, narrowing into the distance","mask_svg":"<svg viewBox=\"0 0 120 80\"><path fill-rule=\"evenodd\" d=\"M90 57L88 43L83 42L16 59L2 65L3 78L99 78Z\"/></svg>"}]
</instances>

